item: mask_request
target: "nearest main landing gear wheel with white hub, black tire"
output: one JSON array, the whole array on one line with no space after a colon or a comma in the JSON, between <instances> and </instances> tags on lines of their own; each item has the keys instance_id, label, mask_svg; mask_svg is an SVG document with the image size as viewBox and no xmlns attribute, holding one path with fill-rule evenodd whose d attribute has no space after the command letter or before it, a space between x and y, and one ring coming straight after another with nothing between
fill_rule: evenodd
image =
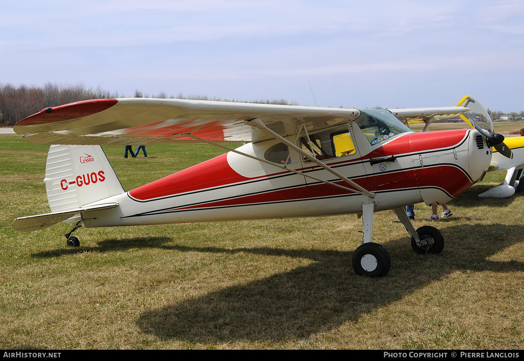
<instances>
[{"instance_id":1,"label":"nearest main landing gear wheel with white hub, black tire","mask_svg":"<svg viewBox=\"0 0 524 361\"><path fill-rule=\"evenodd\" d=\"M353 253L353 269L358 275L384 277L390 268L389 253L378 243L363 243Z\"/></svg>"}]
</instances>

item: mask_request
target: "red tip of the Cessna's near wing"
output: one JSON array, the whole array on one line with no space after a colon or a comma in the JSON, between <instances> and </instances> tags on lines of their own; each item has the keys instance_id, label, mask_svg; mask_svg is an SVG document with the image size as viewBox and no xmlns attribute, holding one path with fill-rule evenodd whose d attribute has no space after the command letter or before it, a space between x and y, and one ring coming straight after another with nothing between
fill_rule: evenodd
<instances>
[{"instance_id":1,"label":"red tip of the Cessna's near wing","mask_svg":"<svg viewBox=\"0 0 524 361\"><path fill-rule=\"evenodd\" d=\"M94 99L59 105L58 107L48 107L18 121L15 126L46 124L82 118L82 116L100 113L111 108L117 102L117 99Z\"/></svg>"}]
</instances>

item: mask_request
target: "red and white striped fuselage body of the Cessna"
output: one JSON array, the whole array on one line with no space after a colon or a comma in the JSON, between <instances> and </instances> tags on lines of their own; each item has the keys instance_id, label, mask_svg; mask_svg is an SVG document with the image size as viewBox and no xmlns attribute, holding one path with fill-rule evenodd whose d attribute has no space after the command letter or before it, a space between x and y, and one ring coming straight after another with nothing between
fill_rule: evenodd
<instances>
[{"instance_id":1,"label":"red and white striped fuselage body of the Cessna","mask_svg":"<svg viewBox=\"0 0 524 361\"><path fill-rule=\"evenodd\" d=\"M274 143L275 140L248 143L238 151L263 158ZM378 147L366 148L360 144L358 150L354 155L323 162L374 193L376 211L421 202L445 203L481 179L491 159L491 149L475 130L402 133ZM390 156L394 158L387 161ZM376 164L371 164L372 159ZM318 165L304 162L296 152L291 152L288 167L347 186ZM97 201L94 204L119 206L97 211L95 219L84 216L83 225L107 227L351 214L361 213L366 201L366 195L228 152Z\"/></svg>"}]
</instances>

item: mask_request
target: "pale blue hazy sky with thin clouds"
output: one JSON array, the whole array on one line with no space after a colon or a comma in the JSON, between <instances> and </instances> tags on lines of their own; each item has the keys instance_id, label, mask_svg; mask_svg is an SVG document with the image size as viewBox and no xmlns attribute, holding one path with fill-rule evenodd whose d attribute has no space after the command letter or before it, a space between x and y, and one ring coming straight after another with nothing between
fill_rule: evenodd
<instances>
[{"instance_id":1,"label":"pale blue hazy sky with thin clouds","mask_svg":"<svg viewBox=\"0 0 524 361\"><path fill-rule=\"evenodd\" d=\"M3 2L0 84L524 110L520 0Z\"/></svg>"}]
</instances>

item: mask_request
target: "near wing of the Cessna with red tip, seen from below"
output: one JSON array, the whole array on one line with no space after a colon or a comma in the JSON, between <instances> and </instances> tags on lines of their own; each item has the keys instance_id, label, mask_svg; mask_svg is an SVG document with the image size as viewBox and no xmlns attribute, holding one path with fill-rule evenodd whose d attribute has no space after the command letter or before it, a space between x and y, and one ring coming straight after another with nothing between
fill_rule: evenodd
<instances>
[{"instance_id":1,"label":"near wing of the Cessna with red tip, seen from below","mask_svg":"<svg viewBox=\"0 0 524 361\"><path fill-rule=\"evenodd\" d=\"M194 140L258 142L355 120L358 109L180 99L97 99L46 108L20 120L17 134L37 144L150 144Z\"/></svg>"}]
</instances>

